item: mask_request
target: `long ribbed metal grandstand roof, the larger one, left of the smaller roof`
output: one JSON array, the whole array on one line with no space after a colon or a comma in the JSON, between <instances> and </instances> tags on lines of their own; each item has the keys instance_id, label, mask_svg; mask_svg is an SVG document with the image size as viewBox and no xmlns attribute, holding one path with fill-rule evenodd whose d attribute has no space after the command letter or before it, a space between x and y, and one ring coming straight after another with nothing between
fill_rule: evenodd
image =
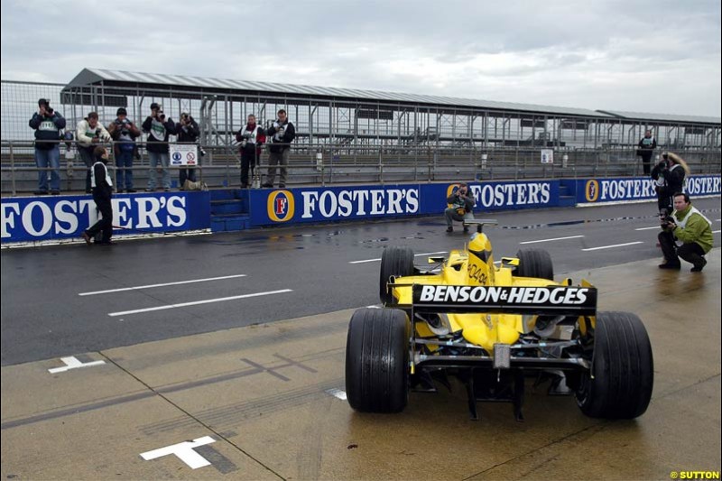
<instances>
[{"instance_id":1,"label":"long ribbed metal grandstand roof, the larger one, left of the smaller roof","mask_svg":"<svg viewBox=\"0 0 722 481\"><path fill-rule=\"evenodd\" d=\"M208 77L189 77L185 75L167 75L157 73L130 72L125 70L83 69L66 88L88 85L149 85L153 87L184 87L213 90L232 90L239 95L294 95L301 97L324 97L344 100L400 102L404 104L422 104L434 106L454 106L460 108L484 108L534 114L551 114L555 116L592 116L611 117L586 108L570 108L560 106L542 106L533 104L517 104L512 102L494 102L475 98L440 97L428 95L404 94L398 92L382 92L378 90L358 90L354 88L315 87L309 85L279 84L271 82L253 82L248 80L215 79Z\"/></svg>"}]
</instances>

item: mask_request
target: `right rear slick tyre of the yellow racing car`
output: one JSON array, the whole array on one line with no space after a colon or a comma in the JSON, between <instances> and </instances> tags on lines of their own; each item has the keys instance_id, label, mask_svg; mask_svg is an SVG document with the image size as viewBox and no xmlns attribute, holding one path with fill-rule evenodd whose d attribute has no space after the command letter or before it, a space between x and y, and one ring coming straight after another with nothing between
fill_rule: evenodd
<instances>
[{"instance_id":1,"label":"right rear slick tyre of the yellow racing car","mask_svg":"<svg viewBox=\"0 0 722 481\"><path fill-rule=\"evenodd\" d=\"M597 314L589 374L581 375L577 391L579 408L588 416L633 419L647 410L654 363L642 320L629 312Z\"/></svg>"}]
</instances>

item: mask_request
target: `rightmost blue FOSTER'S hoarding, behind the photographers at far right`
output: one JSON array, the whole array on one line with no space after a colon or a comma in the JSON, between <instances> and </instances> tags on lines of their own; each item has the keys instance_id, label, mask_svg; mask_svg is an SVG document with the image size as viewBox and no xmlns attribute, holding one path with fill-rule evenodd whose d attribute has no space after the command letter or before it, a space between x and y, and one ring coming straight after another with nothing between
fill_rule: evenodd
<instances>
[{"instance_id":1,"label":"rightmost blue FOSTER'S hoarding, behind the photographers at far right","mask_svg":"<svg viewBox=\"0 0 722 481\"><path fill-rule=\"evenodd\" d=\"M577 203L595 204L656 199L654 180L649 177L598 178L577 180ZM684 191L690 196L719 195L719 175L692 175L685 179Z\"/></svg>"}]
</instances>

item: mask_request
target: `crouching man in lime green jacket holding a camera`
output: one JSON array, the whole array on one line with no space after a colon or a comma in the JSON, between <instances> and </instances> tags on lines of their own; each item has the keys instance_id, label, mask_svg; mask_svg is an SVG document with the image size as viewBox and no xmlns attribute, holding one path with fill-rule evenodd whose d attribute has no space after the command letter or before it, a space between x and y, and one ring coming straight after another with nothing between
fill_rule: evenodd
<instances>
[{"instance_id":1,"label":"crouching man in lime green jacket holding a camera","mask_svg":"<svg viewBox=\"0 0 722 481\"><path fill-rule=\"evenodd\" d=\"M673 198L674 212L660 218L659 240L664 264L659 267L679 270L681 258L693 265L693 273L699 273L707 264L705 254L712 248L712 223L692 207L689 195L677 192Z\"/></svg>"}]
</instances>

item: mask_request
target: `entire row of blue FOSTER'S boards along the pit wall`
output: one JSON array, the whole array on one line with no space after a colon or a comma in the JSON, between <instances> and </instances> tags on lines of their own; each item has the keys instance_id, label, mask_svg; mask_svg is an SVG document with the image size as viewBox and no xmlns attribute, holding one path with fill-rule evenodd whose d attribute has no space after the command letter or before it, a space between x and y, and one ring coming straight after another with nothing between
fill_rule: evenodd
<instances>
[{"instance_id":1,"label":"entire row of blue FOSTER'S boards along the pit wall","mask_svg":"<svg viewBox=\"0 0 722 481\"><path fill-rule=\"evenodd\" d=\"M113 198L116 234L241 230L298 223L440 215L456 183L210 190L120 194ZM477 212L555 208L655 199L647 178L482 181L469 183ZM720 175L686 180L692 198L720 195ZM4 198L2 244L79 239L97 220L90 196Z\"/></svg>"}]
</instances>

